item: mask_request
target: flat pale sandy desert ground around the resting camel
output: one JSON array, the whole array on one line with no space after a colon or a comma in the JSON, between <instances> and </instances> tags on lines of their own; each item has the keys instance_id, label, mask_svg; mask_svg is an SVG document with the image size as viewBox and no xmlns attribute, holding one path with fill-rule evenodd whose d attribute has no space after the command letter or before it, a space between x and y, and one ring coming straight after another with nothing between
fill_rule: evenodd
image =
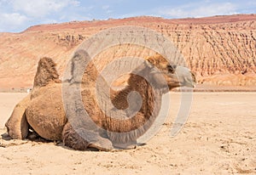
<instances>
[{"instance_id":1,"label":"flat pale sandy desert ground around the resting camel","mask_svg":"<svg viewBox=\"0 0 256 175\"><path fill-rule=\"evenodd\" d=\"M0 133L26 93L0 93ZM1 174L256 174L256 93L194 93L189 119L170 137L180 106L134 150L75 151L61 144L3 140Z\"/></svg>"}]
</instances>

